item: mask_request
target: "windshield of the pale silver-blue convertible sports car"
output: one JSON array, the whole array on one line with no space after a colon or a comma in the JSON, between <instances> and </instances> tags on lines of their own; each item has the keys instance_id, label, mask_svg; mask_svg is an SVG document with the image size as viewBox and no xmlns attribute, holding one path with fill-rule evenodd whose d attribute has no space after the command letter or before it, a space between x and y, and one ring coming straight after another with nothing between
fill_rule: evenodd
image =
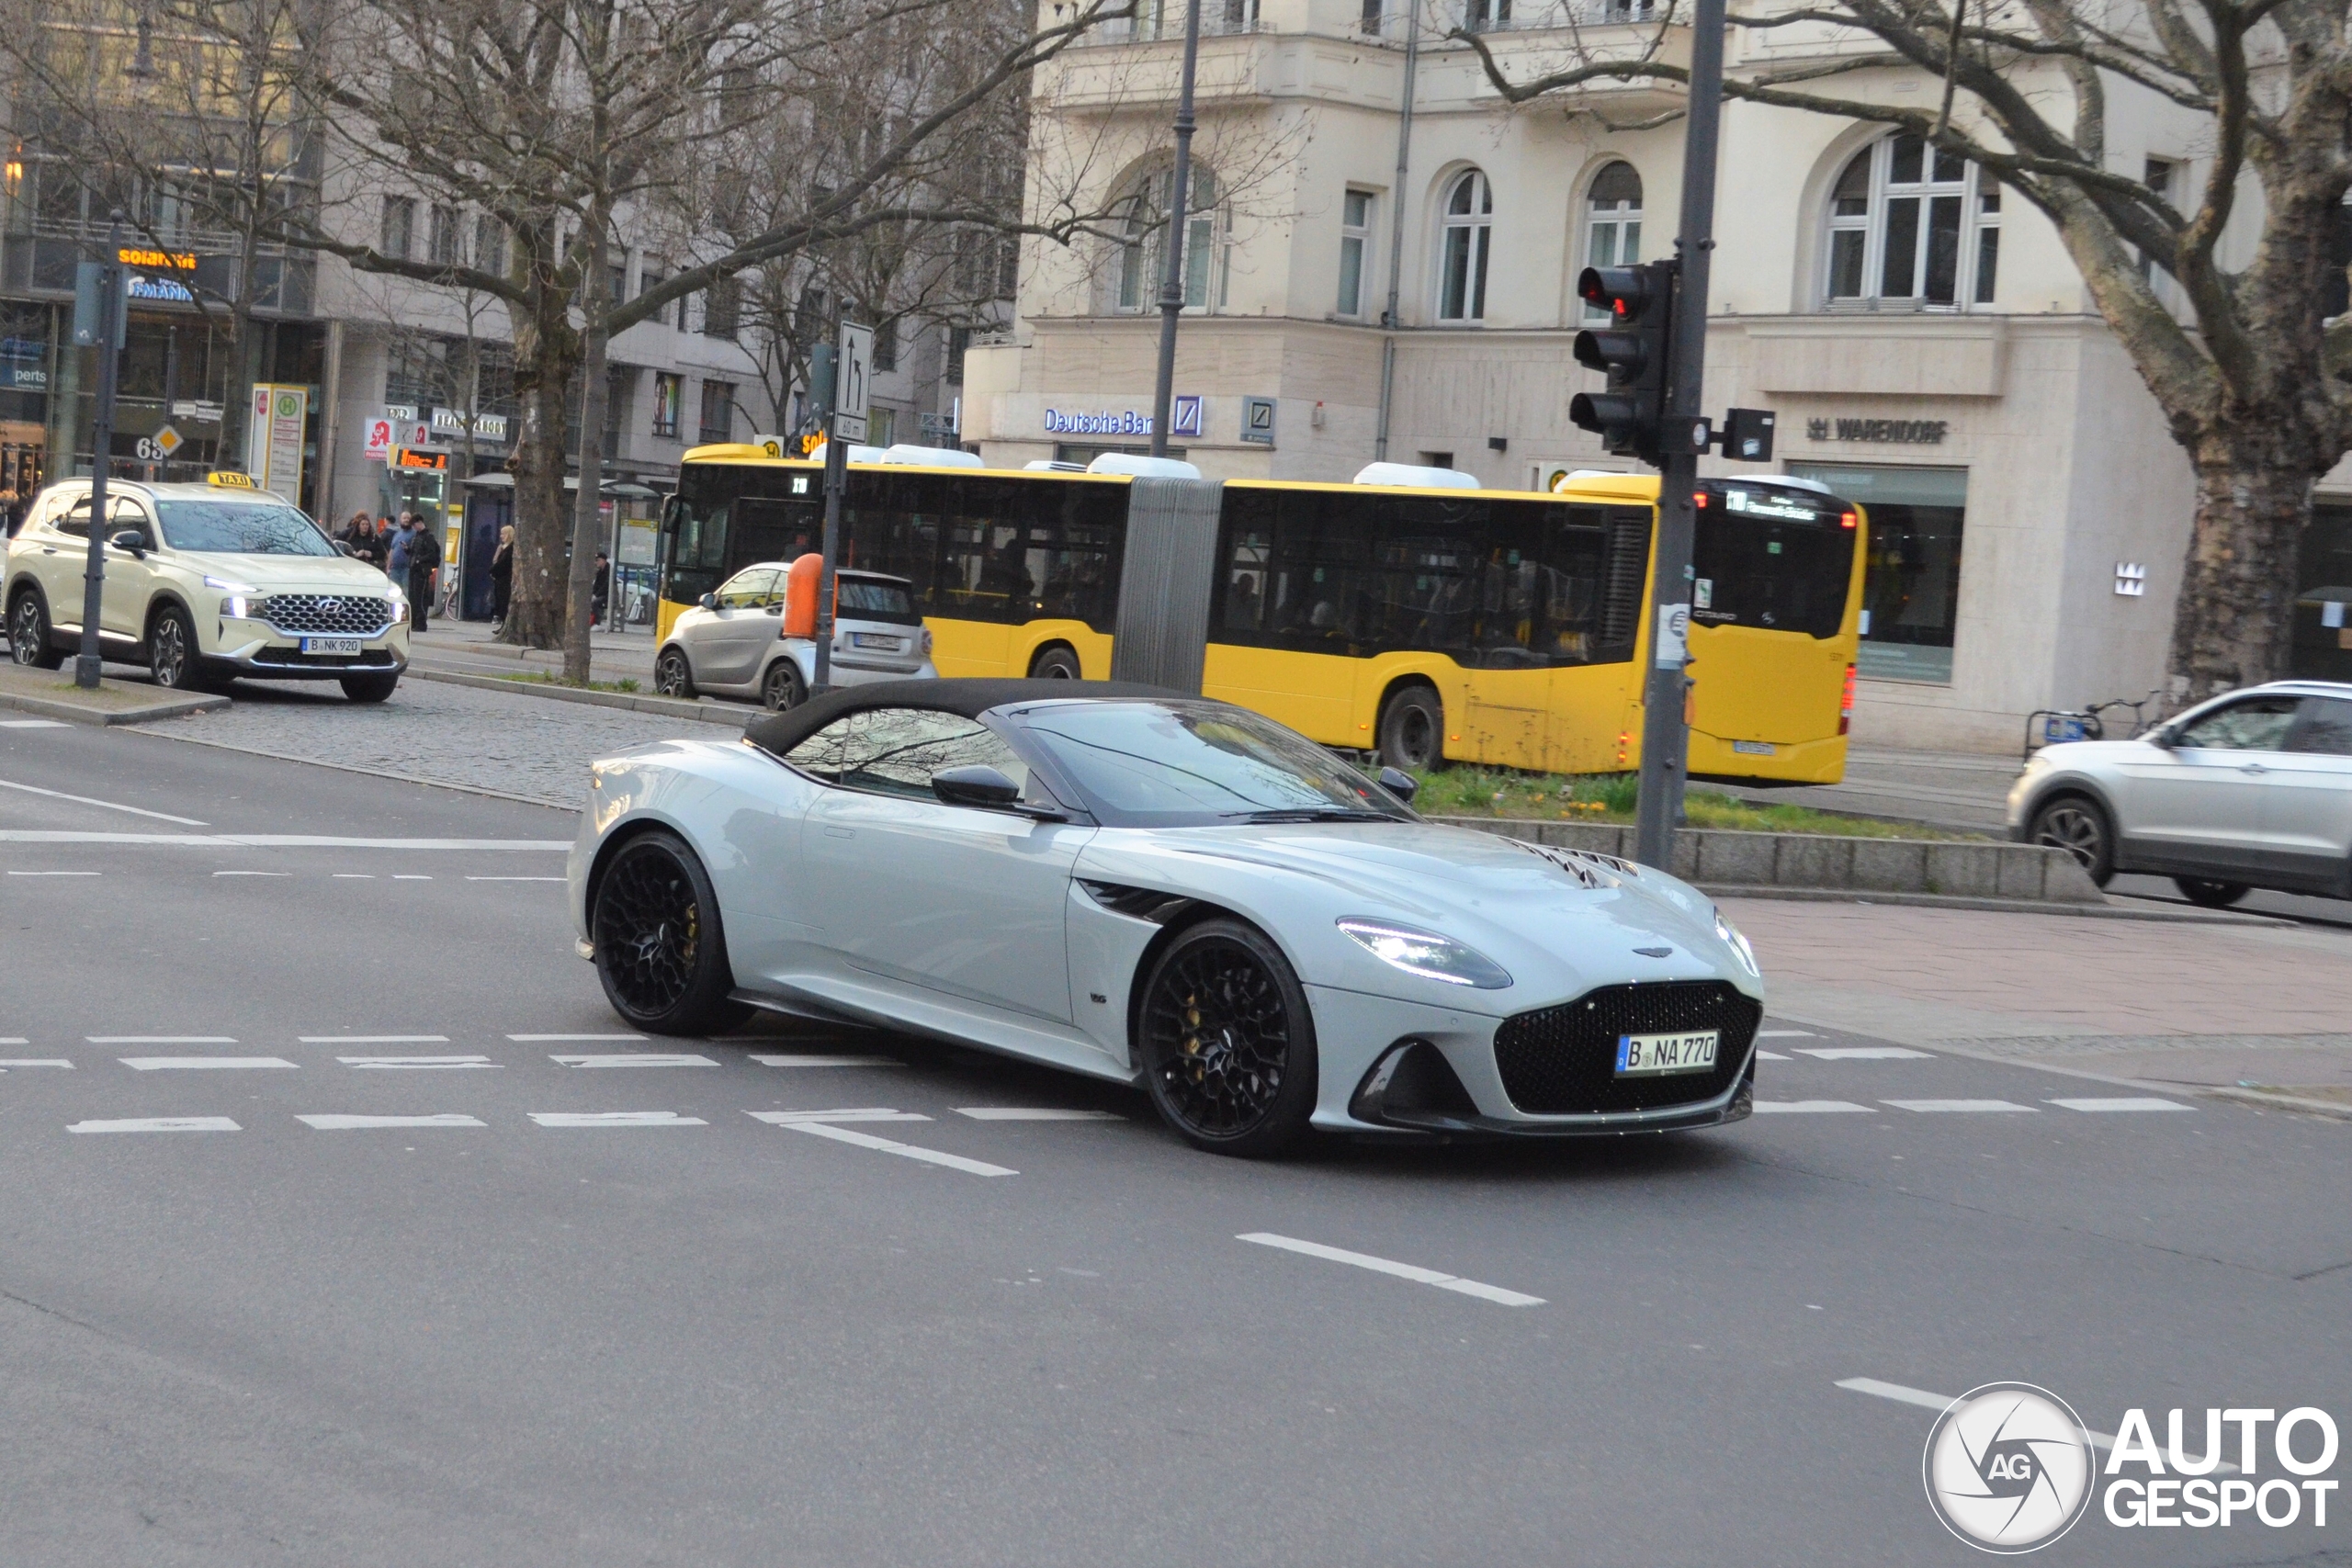
<instances>
[{"instance_id":1,"label":"windshield of the pale silver-blue convertible sports car","mask_svg":"<svg viewBox=\"0 0 2352 1568\"><path fill-rule=\"evenodd\" d=\"M1087 806L1122 827L1414 820L1305 736L1223 703L1054 703L1021 719Z\"/></svg>"}]
</instances>

